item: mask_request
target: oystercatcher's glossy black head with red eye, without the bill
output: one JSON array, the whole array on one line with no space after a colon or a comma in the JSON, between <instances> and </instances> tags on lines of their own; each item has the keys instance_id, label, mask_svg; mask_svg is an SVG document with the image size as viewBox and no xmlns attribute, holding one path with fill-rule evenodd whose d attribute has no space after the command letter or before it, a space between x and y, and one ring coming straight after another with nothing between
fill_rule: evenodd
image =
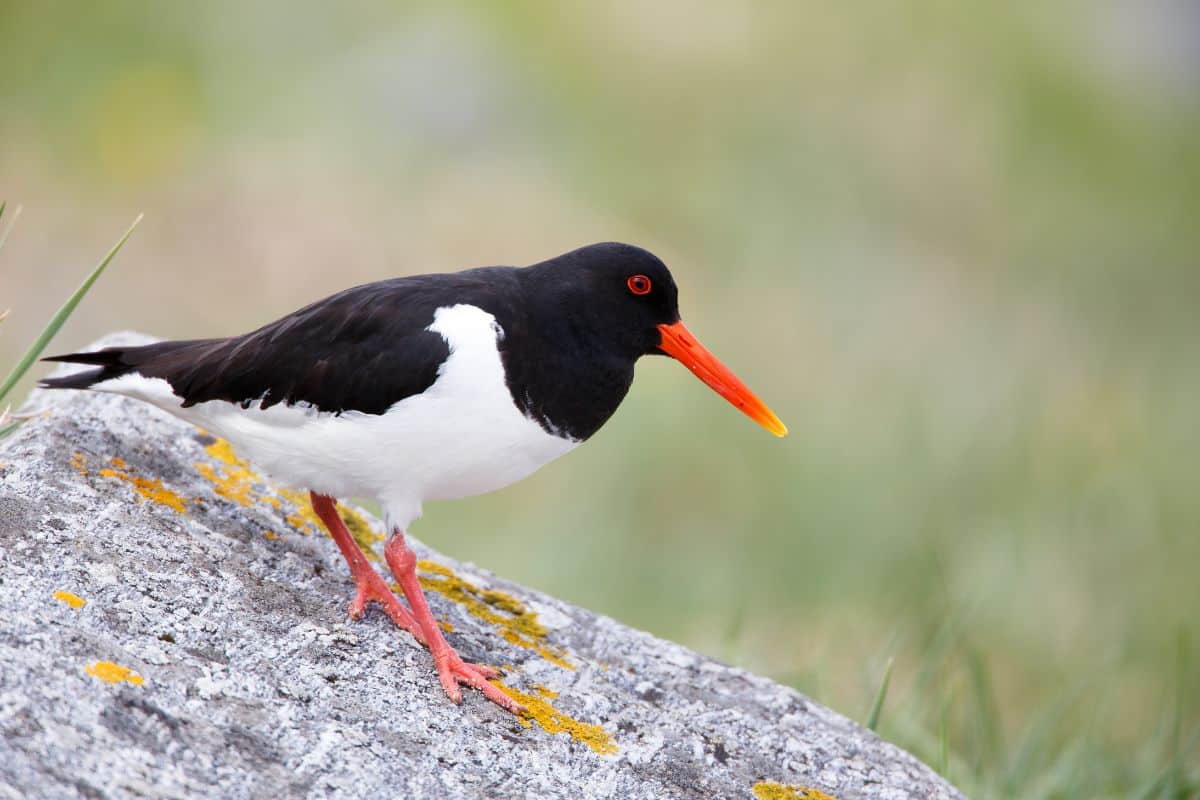
<instances>
[{"instance_id":1,"label":"oystercatcher's glossy black head with red eye, without the bill","mask_svg":"<svg viewBox=\"0 0 1200 800\"><path fill-rule=\"evenodd\" d=\"M679 320L671 271L634 245L588 245L523 271L539 305L565 314L578 338L624 359L661 355L659 325Z\"/></svg>"}]
</instances>

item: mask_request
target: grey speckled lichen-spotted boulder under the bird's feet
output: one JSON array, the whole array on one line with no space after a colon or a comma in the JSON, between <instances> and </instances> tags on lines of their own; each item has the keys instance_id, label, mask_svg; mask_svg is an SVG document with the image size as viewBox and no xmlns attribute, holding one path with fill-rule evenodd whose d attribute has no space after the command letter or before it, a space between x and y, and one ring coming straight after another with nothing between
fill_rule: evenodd
<instances>
[{"instance_id":1,"label":"grey speckled lichen-spotted boulder under the bird's feet","mask_svg":"<svg viewBox=\"0 0 1200 800\"><path fill-rule=\"evenodd\" d=\"M301 493L136 401L32 404L0 441L0 798L961 796L790 688L414 542L530 715L455 706L382 612L347 620Z\"/></svg>"}]
</instances>

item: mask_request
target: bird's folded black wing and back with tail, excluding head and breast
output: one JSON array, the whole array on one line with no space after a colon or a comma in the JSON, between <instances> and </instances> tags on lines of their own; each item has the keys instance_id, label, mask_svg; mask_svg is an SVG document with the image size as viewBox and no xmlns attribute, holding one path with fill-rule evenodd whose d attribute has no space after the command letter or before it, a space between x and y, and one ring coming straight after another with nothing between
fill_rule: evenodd
<instances>
[{"instance_id":1,"label":"bird's folded black wing and back with tail, excluding head and breast","mask_svg":"<svg viewBox=\"0 0 1200 800\"><path fill-rule=\"evenodd\" d=\"M227 339L160 342L44 359L98 365L50 389L85 389L122 374L163 378L184 405L222 399L262 408L311 403L320 411L383 414L433 385L450 355L445 339L426 330L434 312L487 300L496 289L469 270L380 281L320 300L257 331ZM488 303L490 305L490 303Z\"/></svg>"}]
</instances>

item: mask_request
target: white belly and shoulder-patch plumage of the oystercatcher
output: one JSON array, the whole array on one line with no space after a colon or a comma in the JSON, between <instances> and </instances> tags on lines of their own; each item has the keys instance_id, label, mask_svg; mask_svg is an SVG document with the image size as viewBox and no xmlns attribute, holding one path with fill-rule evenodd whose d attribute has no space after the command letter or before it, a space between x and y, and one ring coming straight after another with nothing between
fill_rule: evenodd
<instances>
[{"instance_id":1,"label":"white belly and shoulder-patch plumage of the oystercatcher","mask_svg":"<svg viewBox=\"0 0 1200 800\"><path fill-rule=\"evenodd\" d=\"M286 483L376 498L389 525L403 529L425 500L502 488L580 444L546 433L517 410L497 349L504 331L492 314L444 307L428 330L445 338L449 359L432 386L382 415L334 415L305 404L244 409L224 401L181 408L166 380L142 375L94 389L138 397L208 428Z\"/></svg>"}]
</instances>

